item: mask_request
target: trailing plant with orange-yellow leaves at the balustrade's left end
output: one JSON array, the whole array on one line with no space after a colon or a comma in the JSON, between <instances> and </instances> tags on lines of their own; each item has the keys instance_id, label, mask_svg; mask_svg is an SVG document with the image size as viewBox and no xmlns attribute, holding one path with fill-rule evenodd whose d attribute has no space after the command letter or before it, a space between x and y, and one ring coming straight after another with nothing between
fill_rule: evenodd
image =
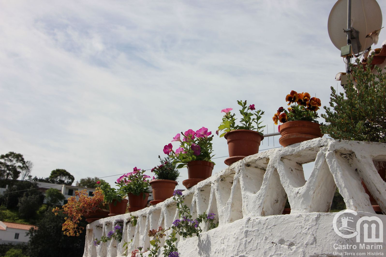
<instances>
[{"instance_id":1,"label":"trailing plant with orange-yellow leaves at the balustrade's left end","mask_svg":"<svg viewBox=\"0 0 386 257\"><path fill-rule=\"evenodd\" d=\"M82 219L83 213L100 211L104 208L103 192L101 188L97 188L93 192L93 197L88 197L87 190L75 191L75 196L68 198L68 202L63 205L63 209L58 207L54 208L52 212L58 215L59 211L62 211L67 217L64 218L62 224L62 230L64 235L78 236L84 229L84 227L78 226ZM77 199L78 198L78 199Z\"/></svg>"}]
</instances>

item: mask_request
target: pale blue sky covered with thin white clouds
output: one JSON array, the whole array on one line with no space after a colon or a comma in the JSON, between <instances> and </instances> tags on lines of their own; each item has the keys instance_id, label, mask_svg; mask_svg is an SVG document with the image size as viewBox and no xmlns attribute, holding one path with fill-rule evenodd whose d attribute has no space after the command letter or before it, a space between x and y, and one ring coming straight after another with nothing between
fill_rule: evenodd
<instances>
[{"instance_id":1,"label":"pale blue sky covered with thin white clouds","mask_svg":"<svg viewBox=\"0 0 386 257\"><path fill-rule=\"evenodd\" d=\"M327 32L334 3L0 0L0 153L22 153L34 176L150 169L176 133L214 132L239 99L277 131L286 94L328 106L345 71ZM213 143L215 157L228 155L225 139Z\"/></svg>"}]
</instances>

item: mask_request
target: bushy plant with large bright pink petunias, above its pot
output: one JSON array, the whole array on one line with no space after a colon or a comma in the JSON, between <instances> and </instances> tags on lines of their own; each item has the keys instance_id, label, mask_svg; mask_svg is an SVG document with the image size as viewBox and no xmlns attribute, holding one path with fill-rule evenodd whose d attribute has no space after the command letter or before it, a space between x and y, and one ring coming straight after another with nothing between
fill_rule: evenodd
<instances>
[{"instance_id":1,"label":"bushy plant with large bright pink petunias, above its pot","mask_svg":"<svg viewBox=\"0 0 386 257\"><path fill-rule=\"evenodd\" d=\"M183 136L181 140L181 134ZM177 168L186 167L190 161L211 161L214 155L212 149L212 131L202 127L196 131L188 129L185 133L181 132L174 136L174 141L179 141L180 146L175 151L171 143L164 146L164 153L173 159L173 163L178 164Z\"/></svg>"}]
</instances>

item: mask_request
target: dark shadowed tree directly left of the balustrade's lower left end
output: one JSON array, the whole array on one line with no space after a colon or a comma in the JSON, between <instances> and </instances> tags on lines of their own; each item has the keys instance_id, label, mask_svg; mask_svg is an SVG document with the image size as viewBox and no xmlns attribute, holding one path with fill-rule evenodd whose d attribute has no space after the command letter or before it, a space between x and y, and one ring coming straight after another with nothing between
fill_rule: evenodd
<instances>
[{"instance_id":1,"label":"dark shadowed tree directly left of the balustrade's lower left end","mask_svg":"<svg viewBox=\"0 0 386 257\"><path fill-rule=\"evenodd\" d=\"M68 257L82 256L85 248L85 233L81 237L68 237L63 234L62 223L65 215L57 216L51 211L44 213L37 222L37 229L31 228L28 232L28 255L30 257ZM81 220L82 227L87 223ZM48 240L47 240L48 239Z\"/></svg>"}]
</instances>

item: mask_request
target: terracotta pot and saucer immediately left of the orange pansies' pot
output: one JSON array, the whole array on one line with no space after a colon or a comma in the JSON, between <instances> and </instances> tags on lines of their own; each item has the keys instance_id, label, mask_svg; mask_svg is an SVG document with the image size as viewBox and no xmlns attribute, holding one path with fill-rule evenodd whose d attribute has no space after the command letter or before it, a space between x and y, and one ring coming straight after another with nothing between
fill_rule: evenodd
<instances>
[{"instance_id":1,"label":"terracotta pot and saucer immediately left of the orange pansies' pot","mask_svg":"<svg viewBox=\"0 0 386 257\"><path fill-rule=\"evenodd\" d=\"M253 130L238 129L229 131L224 138L227 139L229 151L229 158L225 159L224 163L231 165L246 156L258 153L264 136Z\"/></svg>"}]
</instances>

